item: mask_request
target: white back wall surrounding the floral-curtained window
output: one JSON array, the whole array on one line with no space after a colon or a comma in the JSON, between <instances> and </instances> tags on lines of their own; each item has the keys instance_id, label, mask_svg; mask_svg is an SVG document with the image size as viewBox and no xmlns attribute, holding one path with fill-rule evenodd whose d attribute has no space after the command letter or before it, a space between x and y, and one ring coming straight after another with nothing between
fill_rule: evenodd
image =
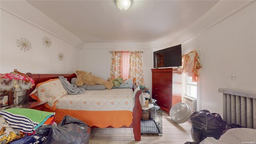
<instances>
[{"instance_id":1,"label":"white back wall surrounding the floral-curtained window","mask_svg":"<svg viewBox=\"0 0 256 144\"><path fill-rule=\"evenodd\" d=\"M80 51L80 70L92 72L93 75L107 80L110 77L110 51L112 50L140 50L143 51L144 84L152 92L153 52L147 43L93 43L84 46Z\"/></svg>"}]
</instances>

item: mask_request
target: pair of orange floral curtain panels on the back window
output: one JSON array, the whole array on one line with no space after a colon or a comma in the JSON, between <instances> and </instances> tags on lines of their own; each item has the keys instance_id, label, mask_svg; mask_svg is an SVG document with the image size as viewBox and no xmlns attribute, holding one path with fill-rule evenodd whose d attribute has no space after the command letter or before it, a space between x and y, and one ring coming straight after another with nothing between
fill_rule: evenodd
<instances>
[{"instance_id":1,"label":"pair of orange floral curtain panels on the back window","mask_svg":"<svg viewBox=\"0 0 256 144\"><path fill-rule=\"evenodd\" d=\"M137 85L144 86L143 78L143 66L142 66L142 53L141 51L111 51L111 65L110 65L110 78L122 77L123 61L122 52L129 52L129 67L128 78L136 78L135 83Z\"/></svg>"}]
</instances>

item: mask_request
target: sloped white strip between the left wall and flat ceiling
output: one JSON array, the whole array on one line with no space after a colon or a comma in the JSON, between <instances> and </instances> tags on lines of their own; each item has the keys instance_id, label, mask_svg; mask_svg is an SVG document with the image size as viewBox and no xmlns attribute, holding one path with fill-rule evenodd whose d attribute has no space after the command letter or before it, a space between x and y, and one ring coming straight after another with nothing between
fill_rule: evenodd
<instances>
[{"instance_id":1,"label":"sloped white strip between the left wall and flat ceiling","mask_svg":"<svg viewBox=\"0 0 256 144\"><path fill-rule=\"evenodd\" d=\"M80 38L54 22L41 11L30 5L26 0L1 0L1 10L5 10L10 14L18 16L18 18L26 20L30 24L42 29L50 34L64 40L78 48L82 48L85 42Z\"/></svg>"}]
</instances>

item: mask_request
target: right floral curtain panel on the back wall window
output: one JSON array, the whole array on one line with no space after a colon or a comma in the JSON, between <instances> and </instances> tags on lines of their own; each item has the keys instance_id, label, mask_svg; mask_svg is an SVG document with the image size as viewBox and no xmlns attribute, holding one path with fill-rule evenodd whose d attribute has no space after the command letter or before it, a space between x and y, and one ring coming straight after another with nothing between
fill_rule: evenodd
<instances>
[{"instance_id":1,"label":"right floral curtain panel on the back wall window","mask_svg":"<svg viewBox=\"0 0 256 144\"><path fill-rule=\"evenodd\" d=\"M129 78L136 78L136 84L144 86L141 51L130 52Z\"/></svg>"}]
</instances>

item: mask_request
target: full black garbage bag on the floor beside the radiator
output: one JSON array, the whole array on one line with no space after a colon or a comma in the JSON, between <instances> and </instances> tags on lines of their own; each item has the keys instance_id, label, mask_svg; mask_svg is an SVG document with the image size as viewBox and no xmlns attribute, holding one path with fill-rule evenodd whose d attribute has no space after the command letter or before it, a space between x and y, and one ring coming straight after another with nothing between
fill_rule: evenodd
<instances>
[{"instance_id":1,"label":"full black garbage bag on the floor beside the radiator","mask_svg":"<svg viewBox=\"0 0 256 144\"><path fill-rule=\"evenodd\" d=\"M209 110L193 112L189 118L192 123L191 136L194 142L200 143L207 137L219 139L226 128L226 122L220 114L210 113Z\"/></svg>"}]
</instances>

